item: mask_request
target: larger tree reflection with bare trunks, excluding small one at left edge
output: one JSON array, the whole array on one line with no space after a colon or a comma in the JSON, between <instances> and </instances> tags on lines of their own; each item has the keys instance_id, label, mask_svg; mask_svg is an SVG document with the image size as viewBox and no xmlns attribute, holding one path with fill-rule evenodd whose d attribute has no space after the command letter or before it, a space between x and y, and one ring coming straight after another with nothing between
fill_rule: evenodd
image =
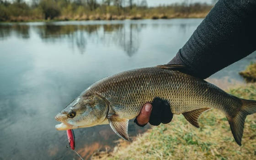
<instances>
[{"instance_id":1,"label":"larger tree reflection with bare trunks, excluding small one at left edge","mask_svg":"<svg viewBox=\"0 0 256 160\"><path fill-rule=\"evenodd\" d=\"M114 43L121 47L129 57L133 56L139 49L139 31L143 25L138 24L113 24L113 25L86 25L86 26L56 26L46 25L37 29L39 36L45 42L55 42L66 37L83 54L86 50L88 40L95 40L97 43ZM103 29L103 33L101 30Z\"/></svg>"}]
</instances>

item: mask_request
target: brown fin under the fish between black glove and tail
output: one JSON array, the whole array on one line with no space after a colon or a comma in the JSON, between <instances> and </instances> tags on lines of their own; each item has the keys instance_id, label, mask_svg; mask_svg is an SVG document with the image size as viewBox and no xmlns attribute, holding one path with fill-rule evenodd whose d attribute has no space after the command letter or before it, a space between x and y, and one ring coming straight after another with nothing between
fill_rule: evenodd
<instances>
[{"instance_id":1,"label":"brown fin under the fish between black glove and tail","mask_svg":"<svg viewBox=\"0 0 256 160\"><path fill-rule=\"evenodd\" d=\"M189 123L191 123L196 128L200 128L198 124L198 118L203 112L207 111L208 109L211 109L211 108L200 108L190 112L184 112L182 114Z\"/></svg>"}]
</instances>

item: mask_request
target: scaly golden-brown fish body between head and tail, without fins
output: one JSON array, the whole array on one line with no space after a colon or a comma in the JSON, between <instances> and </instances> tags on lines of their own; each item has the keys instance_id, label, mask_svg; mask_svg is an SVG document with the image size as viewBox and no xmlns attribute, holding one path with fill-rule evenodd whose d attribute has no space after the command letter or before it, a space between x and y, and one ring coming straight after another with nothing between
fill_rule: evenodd
<instances>
[{"instance_id":1,"label":"scaly golden-brown fish body between head and tail, without fins","mask_svg":"<svg viewBox=\"0 0 256 160\"><path fill-rule=\"evenodd\" d=\"M127 117L136 117L141 107L155 97L167 100L174 114L204 107L233 111L241 105L237 103L238 98L215 85L177 70L158 67L134 69L101 80L91 85L86 94L105 97L113 110Z\"/></svg>"}]
</instances>

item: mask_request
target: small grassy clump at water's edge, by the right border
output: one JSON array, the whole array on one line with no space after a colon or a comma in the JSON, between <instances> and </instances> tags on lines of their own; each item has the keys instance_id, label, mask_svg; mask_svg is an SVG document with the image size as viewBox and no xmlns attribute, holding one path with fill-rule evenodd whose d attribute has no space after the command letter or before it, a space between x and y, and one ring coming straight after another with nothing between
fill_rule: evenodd
<instances>
[{"instance_id":1,"label":"small grassy clump at water's edge, by the right border","mask_svg":"<svg viewBox=\"0 0 256 160\"><path fill-rule=\"evenodd\" d=\"M256 63L251 63L239 74L244 77L246 82L256 82Z\"/></svg>"}]
</instances>

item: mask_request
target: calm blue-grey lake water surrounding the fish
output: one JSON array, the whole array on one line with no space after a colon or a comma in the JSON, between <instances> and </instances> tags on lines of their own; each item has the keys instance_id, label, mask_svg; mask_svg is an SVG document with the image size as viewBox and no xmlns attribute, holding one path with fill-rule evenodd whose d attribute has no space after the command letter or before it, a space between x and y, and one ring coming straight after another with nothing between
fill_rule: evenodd
<instances>
[{"instance_id":1,"label":"calm blue-grey lake water surrounding the fish","mask_svg":"<svg viewBox=\"0 0 256 160\"><path fill-rule=\"evenodd\" d=\"M0 159L67 159L65 131L54 116L93 82L108 75L165 64L202 19L64 21L0 24ZM210 81L242 83L238 71L253 53ZM147 127L146 127L147 128ZM129 135L143 132L129 124ZM108 125L75 130L85 158L119 139Z\"/></svg>"}]
</instances>

